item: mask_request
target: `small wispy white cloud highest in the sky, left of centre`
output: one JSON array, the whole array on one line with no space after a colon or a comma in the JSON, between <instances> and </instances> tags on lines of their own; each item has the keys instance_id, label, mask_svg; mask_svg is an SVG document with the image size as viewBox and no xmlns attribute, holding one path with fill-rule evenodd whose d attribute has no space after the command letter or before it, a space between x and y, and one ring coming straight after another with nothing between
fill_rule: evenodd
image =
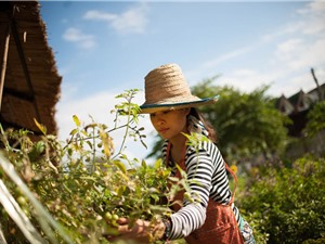
<instances>
[{"instance_id":1,"label":"small wispy white cloud highest in the sky, left of centre","mask_svg":"<svg viewBox=\"0 0 325 244\"><path fill-rule=\"evenodd\" d=\"M113 14L98 10L88 11L83 18L91 21L104 21L115 30L121 34L142 34L147 24L147 5L139 3L120 14Z\"/></svg>"}]
</instances>

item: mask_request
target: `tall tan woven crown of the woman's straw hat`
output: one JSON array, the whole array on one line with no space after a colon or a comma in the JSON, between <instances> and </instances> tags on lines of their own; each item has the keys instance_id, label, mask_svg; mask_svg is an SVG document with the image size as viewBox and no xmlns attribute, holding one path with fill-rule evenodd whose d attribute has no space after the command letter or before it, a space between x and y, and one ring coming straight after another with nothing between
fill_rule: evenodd
<instances>
[{"instance_id":1,"label":"tall tan woven crown of the woman's straw hat","mask_svg":"<svg viewBox=\"0 0 325 244\"><path fill-rule=\"evenodd\" d=\"M192 95L178 64L161 65L145 76L145 103L164 104L198 100Z\"/></svg>"}]
</instances>

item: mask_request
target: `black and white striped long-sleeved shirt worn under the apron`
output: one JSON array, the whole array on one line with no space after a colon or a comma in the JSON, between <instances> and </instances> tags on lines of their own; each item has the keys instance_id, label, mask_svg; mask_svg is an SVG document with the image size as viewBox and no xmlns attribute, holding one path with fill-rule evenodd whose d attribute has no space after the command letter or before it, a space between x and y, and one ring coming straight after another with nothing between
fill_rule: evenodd
<instances>
[{"instance_id":1,"label":"black and white striped long-sleeved shirt worn under the apron","mask_svg":"<svg viewBox=\"0 0 325 244\"><path fill-rule=\"evenodd\" d=\"M164 158L167 158L167 146L166 140L162 145ZM204 224L209 198L220 204L229 204L232 197L224 160L219 149L211 141L202 142L198 150L187 145L184 162L187 179L191 182L191 195L199 196L199 204L183 201L183 207L171 215L170 240L187 236ZM171 160L167 164L174 167ZM237 207L233 204L232 208L239 222Z\"/></svg>"}]
</instances>

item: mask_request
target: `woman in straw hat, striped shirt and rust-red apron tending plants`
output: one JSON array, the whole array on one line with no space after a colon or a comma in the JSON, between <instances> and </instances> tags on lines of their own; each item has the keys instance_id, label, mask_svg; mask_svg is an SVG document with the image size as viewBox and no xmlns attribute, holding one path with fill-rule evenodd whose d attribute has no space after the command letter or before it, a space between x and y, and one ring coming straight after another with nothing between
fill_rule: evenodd
<instances>
[{"instance_id":1,"label":"woman in straw hat, striped shirt and rust-red apron tending plants","mask_svg":"<svg viewBox=\"0 0 325 244\"><path fill-rule=\"evenodd\" d=\"M177 177L181 176L176 164L186 171L192 182L190 194L198 201L190 202L179 194L176 200L183 201L183 206L174 205L176 213L154 227L139 219L129 228L128 219L120 218L118 239L150 243L151 235L165 241L184 237L188 244L255 243L251 228L233 203L227 166L213 144L214 131L195 108L217 100L218 97L199 99L192 95L177 64L162 65L147 74L141 113L150 114L154 128L165 139L162 155L166 164L174 169ZM210 140L203 140L197 151L186 144L184 133L192 132Z\"/></svg>"}]
</instances>

